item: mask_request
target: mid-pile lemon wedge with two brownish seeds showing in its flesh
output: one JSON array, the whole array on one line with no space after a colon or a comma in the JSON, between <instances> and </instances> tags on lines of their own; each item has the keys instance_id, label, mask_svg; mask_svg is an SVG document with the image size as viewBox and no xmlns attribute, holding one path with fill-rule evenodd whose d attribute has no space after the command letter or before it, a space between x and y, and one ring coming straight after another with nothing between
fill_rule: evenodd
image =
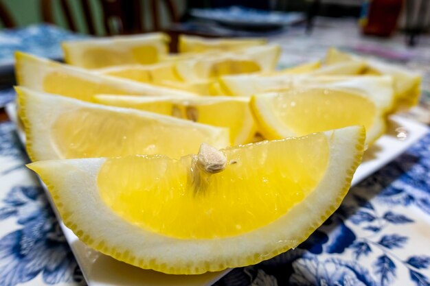
<instances>
[{"instance_id":1,"label":"mid-pile lemon wedge with two brownish seeds showing in its flesh","mask_svg":"<svg viewBox=\"0 0 430 286\"><path fill-rule=\"evenodd\" d=\"M229 128L231 145L249 143L256 132L246 97L139 97L95 95L95 102L172 115Z\"/></svg>"}]
</instances>

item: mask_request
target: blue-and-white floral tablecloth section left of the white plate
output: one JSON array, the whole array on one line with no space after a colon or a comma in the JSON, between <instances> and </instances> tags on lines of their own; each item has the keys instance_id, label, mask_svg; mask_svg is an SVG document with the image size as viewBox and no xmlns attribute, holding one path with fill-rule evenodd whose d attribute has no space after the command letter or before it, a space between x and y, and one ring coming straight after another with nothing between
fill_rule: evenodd
<instances>
[{"instance_id":1,"label":"blue-and-white floral tablecloth section left of the white plate","mask_svg":"<svg viewBox=\"0 0 430 286\"><path fill-rule=\"evenodd\" d=\"M0 123L0 285L85 285L11 122Z\"/></svg>"}]
</instances>

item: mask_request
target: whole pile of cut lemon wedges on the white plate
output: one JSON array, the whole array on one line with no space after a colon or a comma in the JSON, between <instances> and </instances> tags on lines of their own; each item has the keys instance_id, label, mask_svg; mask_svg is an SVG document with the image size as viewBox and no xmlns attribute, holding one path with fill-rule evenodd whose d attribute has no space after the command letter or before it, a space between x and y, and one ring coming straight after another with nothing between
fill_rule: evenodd
<instances>
[{"instance_id":1,"label":"whole pile of cut lemon wedges on the white plate","mask_svg":"<svg viewBox=\"0 0 430 286\"><path fill-rule=\"evenodd\" d=\"M120 36L63 43L66 64L16 53L27 152L66 226L168 274L258 263L341 204L415 73L335 49L276 70L258 39ZM209 96L210 95L210 96Z\"/></svg>"}]
</instances>

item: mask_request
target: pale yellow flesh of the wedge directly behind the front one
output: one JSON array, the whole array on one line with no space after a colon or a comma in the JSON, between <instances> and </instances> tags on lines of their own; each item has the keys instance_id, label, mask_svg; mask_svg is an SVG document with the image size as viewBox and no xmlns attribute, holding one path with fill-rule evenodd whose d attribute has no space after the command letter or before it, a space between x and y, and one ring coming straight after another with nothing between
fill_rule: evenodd
<instances>
[{"instance_id":1,"label":"pale yellow flesh of the wedge directly behind the front one","mask_svg":"<svg viewBox=\"0 0 430 286\"><path fill-rule=\"evenodd\" d=\"M52 125L50 136L61 158L131 154L166 154L179 158L197 152L202 142L214 141L211 132L133 113L78 108L60 115Z\"/></svg>"}]
</instances>

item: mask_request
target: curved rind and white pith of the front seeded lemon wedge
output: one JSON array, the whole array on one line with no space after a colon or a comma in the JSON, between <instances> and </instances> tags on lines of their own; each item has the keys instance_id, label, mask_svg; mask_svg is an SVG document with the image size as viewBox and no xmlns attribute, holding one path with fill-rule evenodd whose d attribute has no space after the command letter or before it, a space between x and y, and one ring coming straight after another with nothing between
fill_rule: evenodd
<instances>
[{"instance_id":1,"label":"curved rind and white pith of the front seeded lemon wedge","mask_svg":"<svg viewBox=\"0 0 430 286\"><path fill-rule=\"evenodd\" d=\"M104 158L47 160L28 167L47 184L65 225L91 248L144 269L167 274L202 274L259 263L294 248L339 207L361 163L365 131L354 126L324 134L330 146L328 171L306 200L257 230L236 237L201 239L198 243L150 233L113 215L98 198L96 186L95 177ZM85 162L80 165L82 160ZM58 175L53 176L55 173ZM80 178L79 182L74 178ZM91 188L82 189L86 184ZM88 219L89 207L97 211L93 219ZM100 225L113 228L109 230L110 237L102 237L94 230ZM301 235L297 237L298 233ZM124 241L131 248L122 247ZM251 253L243 255L244 252Z\"/></svg>"}]
</instances>

